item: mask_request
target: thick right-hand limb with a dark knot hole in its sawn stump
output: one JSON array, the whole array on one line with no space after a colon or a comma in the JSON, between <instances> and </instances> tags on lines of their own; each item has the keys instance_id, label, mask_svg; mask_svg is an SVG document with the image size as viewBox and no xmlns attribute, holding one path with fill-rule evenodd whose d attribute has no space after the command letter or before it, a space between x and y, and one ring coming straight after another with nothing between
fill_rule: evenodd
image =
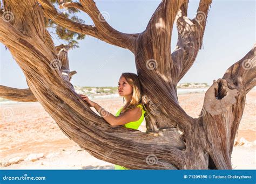
<instances>
[{"instance_id":1,"label":"thick right-hand limb with a dark knot hole in its sawn stump","mask_svg":"<svg viewBox=\"0 0 256 184\"><path fill-rule=\"evenodd\" d=\"M202 109L207 151L218 169L232 169L234 138L245 107L246 93L256 85L255 45L244 58L214 81L205 94ZM218 154L216 154L218 153Z\"/></svg>"}]
</instances>

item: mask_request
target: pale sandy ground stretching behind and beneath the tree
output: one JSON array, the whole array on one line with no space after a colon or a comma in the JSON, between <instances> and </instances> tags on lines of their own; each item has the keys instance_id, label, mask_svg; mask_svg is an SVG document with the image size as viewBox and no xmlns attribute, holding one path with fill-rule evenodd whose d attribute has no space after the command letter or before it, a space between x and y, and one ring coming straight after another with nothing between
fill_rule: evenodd
<instances>
[{"instance_id":1,"label":"pale sandy ground stretching behind and beneath the tree","mask_svg":"<svg viewBox=\"0 0 256 184\"><path fill-rule=\"evenodd\" d=\"M247 94L244 115L236 137L238 140L245 138L251 143L234 147L234 169L256 168L255 97L255 90ZM112 114L123 105L122 98L95 101ZM203 93L179 95L181 107L192 117L199 115L203 101ZM92 157L66 137L38 102L0 104L0 119L0 169L114 168L113 164ZM140 130L145 131L145 122Z\"/></svg>"}]
</instances>

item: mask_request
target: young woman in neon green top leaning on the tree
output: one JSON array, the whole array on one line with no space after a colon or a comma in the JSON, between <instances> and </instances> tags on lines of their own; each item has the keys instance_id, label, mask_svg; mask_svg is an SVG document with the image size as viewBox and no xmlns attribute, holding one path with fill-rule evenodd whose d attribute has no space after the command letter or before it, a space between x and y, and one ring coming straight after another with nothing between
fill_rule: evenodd
<instances>
[{"instance_id":1,"label":"young woman in neon green top leaning on the tree","mask_svg":"<svg viewBox=\"0 0 256 184\"><path fill-rule=\"evenodd\" d=\"M144 119L145 110L142 104L142 88L138 76L134 73L122 73L118 82L118 94L125 99L124 107L120 108L116 115L107 112L99 104L89 100L86 95L83 97L90 107L93 107L112 126L123 125L126 128L138 129ZM127 169L115 165L114 169Z\"/></svg>"}]
</instances>

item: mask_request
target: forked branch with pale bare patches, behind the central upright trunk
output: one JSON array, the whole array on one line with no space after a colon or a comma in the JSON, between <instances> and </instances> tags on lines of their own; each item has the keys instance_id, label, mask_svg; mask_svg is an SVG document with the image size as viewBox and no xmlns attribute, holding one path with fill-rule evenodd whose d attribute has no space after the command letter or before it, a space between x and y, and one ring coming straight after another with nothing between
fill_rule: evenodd
<instances>
[{"instance_id":1,"label":"forked branch with pale bare patches, behind the central upright trunk","mask_svg":"<svg viewBox=\"0 0 256 184\"><path fill-rule=\"evenodd\" d=\"M196 17L192 20L187 17L186 2L177 13L178 43L172 53L174 68L171 71L176 84L191 68L201 49L211 3L212 0L201 0Z\"/></svg>"}]
</instances>

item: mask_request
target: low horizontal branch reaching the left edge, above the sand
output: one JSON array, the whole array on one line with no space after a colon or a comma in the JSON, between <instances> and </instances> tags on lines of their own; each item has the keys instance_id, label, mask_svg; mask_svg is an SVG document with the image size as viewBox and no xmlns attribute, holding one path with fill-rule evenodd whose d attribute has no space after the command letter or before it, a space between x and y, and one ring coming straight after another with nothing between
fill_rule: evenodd
<instances>
[{"instance_id":1,"label":"low horizontal branch reaching the left edge, above the sand","mask_svg":"<svg viewBox=\"0 0 256 184\"><path fill-rule=\"evenodd\" d=\"M30 89L17 89L0 85L0 97L17 102L37 102Z\"/></svg>"}]
</instances>

